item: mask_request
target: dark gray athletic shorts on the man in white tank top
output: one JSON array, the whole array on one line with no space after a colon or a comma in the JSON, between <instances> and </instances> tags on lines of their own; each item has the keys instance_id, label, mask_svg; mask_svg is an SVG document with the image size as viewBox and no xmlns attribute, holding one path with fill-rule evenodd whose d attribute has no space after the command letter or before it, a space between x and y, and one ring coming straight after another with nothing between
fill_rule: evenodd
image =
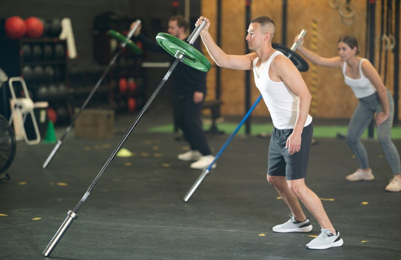
<instances>
[{"instance_id":1,"label":"dark gray athletic shorts on the man in white tank top","mask_svg":"<svg viewBox=\"0 0 401 260\"><path fill-rule=\"evenodd\" d=\"M306 168L309 160L309 150L312 142L312 122L305 126L301 134L301 149L294 154L288 153L285 147L293 129L277 129L273 127L270 138L269 159L267 174L270 176L286 176L287 180L306 177Z\"/></svg>"}]
</instances>

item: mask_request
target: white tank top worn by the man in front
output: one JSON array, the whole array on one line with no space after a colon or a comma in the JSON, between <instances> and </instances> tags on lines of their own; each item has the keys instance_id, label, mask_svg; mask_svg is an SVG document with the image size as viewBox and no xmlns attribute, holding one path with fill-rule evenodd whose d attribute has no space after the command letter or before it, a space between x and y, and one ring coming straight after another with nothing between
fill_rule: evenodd
<instances>
[{"instance_id":1,"label":"white tank top worn by the man in front","mask_svg":"<svg viewBox=\"0 0 401 260\"><path fill-rule=\"evenodd\" d=\"M263 100L269 109L273 124L277 129L292 129L297 120L297 110L299 98L283 81L275 82L269 77L269 67L272 60L277 55L284 55L280 51L275 51L266 62L264 68L260 68L258 77L256 75L256 63L259 57L253 61L255 84L263 96ZM285 56L285 55L284 55ZM305 125L312 122L312 116L308 114Z\"/></svg>"}]
</instances>

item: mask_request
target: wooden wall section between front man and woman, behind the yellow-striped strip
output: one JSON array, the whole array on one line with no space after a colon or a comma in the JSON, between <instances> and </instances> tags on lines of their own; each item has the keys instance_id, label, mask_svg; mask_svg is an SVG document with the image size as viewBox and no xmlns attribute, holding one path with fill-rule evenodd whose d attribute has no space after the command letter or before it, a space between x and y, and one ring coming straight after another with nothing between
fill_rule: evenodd
<instances>
[{"instance_id":1,"label":"wooden wall section between front man and woman, behind the yellow-striped strip","mask_svg":"<svg viewBox=\"0 0 401 260\"><path fill-rule=\"evenodd\" d=\"M324 57L337 56L337 41L343 35L353 35L358 39L359 50L365 53L364 41L366 30L366 2L352 1L355 5L355 20L352 25L341 22L338 9L329 6L328 1L288 0L288 42L304 28L308 31L305 46L311 49L312 22L317 24L317 52ZM310 6L305 8L304 6ZM363 55L363 54L362 54ZM311 66L312 63L308 61ZM306 84L311 88L312 70L302 73ZM340 69L317 66L317 89L313 96L316 100L315 117L349 118L357 99L351 89L345 85Z\"/></svg>"}]
</instances>

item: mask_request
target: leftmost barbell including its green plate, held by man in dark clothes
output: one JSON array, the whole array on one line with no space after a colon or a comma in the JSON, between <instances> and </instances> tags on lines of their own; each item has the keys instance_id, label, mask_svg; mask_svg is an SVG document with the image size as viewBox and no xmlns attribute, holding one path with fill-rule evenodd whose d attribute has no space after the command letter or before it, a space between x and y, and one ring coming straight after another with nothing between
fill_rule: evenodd
<instances>
[{"instance_id":1,"label":"leftmost barbell including its green plate, held by man in dark clothes","mask_svg":"<svg viewBox=\"0 0 401 260\"><path fill-rule=\"evenodd\" d=\"M103 74L100 76L99 80L97 81L96 85L93 87L92 91L89 93L88 97L85 99L84 103L82 104L82 106L79 108L79 111L75 114L75 116L73 117L73 119L71 120L70 125L66 128L66 130L64 131L63 135L61 136L60 139L58 139L56 146L54 146L53 150L50 152L49 156L47 157L45 163L43 163L42 168L46 168L47 165L49 164L49 162L52 160L54 154L56 154L57 150L60 148L61 144L63 144L63 140L64 138L67 136L68 132L72 129L72 127L74 127L75 121L78 118L78 116L81 114L81 112L85 109L86 105L88 104L89 100L92 98L93 94L96 92L96 90L99 88L100 83L103 81L103 78L106 76L106 74L109 72L110 68L114 65L114 63L117 60L117 57L120 55L121 50L127 46L129 47L131 50L133 50L136 53L142 53L142 49L140 49L135 43L133 43L130 38L131 36L134 34L135 30L138 28L139 24L141 23L141 20L136 20L135 21L135 26L128 32L128 35L125 37L122 34L116 32L114 33L112 30L109 30L109 32L111 31L111 33L109 33L109 35L111 35L112 37L115 37L117 40L121 41L121 47L117 50L117 52L114 54L114 56L111 58L111 61L109 63L109 65L106 67L106 69L103 71ZM117 34L118 33L118 34ZM121 36L120 36L121 35ZM57 243L56 243L57 244ZM45 253L44 253L45 254ZM50 254L50 252L49 252ZM45 254L46 255L46 254Z\"/></svg>"}]
</instances>

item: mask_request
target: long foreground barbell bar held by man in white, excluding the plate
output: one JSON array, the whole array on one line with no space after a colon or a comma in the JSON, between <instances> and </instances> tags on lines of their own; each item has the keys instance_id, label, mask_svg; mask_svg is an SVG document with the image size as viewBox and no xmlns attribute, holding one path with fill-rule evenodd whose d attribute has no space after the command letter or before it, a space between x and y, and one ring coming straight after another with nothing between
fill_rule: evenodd
<instances>
[{"instance_id":1,"label":"long foreground barbell bar held by man in white, excluding the plate","mask_svg":"<svg viewBox=\"0 0 401 260\"><path fill-rule=\"evenodd\" d=\"M189 36L189 39L192 39L192 41L189 41L190 44L193 43L193 41L196 39L197 36L199 36L200 30L203 29L203 27L206 25L206 21L203 21L202 24L200 24ZM135 28L133 28L135 29ZM128 34L129 35L129 34ZM77 206L75 207L74 210L69 210L67 213L67 217L64 220L64 222L61 224L60 228L57 230L56 234L53 236L52 240L46 247L45 251L43 251L43 254L45 256L49 256L53 249L56 247L60 239L63 237L67 229L70 227L72 222L78 218L78 210L81 208L82 204L85 202L85 200L88 198L90 195L91 191L95 187L95 185L98 183L99 179L102 177L103 173L106 171L107 167L110 165L111 161L114 159L116 156L117 152L121 149L122 145L124 142L127 140L128 136L131 134L132 130L135 128L136 124L142 117L143 113L147 110L149 105L152 103L153 99L156 97L157 93L160 91L161 87L164 85L165 81L167 78L170 76L171 72L174 70L174 68L177 66L178 62L180 61L179 58L177 58L174 63L171 65L170 69L167 71L157 88L154 90L153 94L150 96L149 100L146 102L145 106L142 108L142 110L139 112L138 116L132 123L132 125L129 127L127 132L124 134L122 137L121 141L118 143L117 147L113 151L113 153L110 155L110 157L107 159L106 163L103 165L102 169L100 172L97 174L96 178L92 182L92 184L89 186L88 190L85 192L84 196L81 198Z\"/></svg>"}]
</instances>

